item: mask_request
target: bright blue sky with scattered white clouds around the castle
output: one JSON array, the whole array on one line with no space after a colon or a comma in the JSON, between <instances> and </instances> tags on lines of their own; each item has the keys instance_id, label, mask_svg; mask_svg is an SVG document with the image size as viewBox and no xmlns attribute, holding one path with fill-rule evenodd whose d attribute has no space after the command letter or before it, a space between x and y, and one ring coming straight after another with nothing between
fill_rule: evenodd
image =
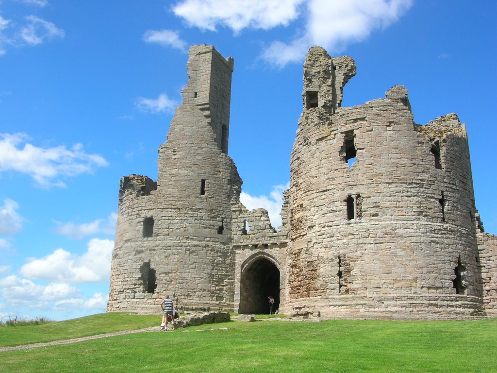
<instances>
[{"instance_id":1,"label":"bright blue sky with scattered white clouds around the castle","mask_svg":"<svg viewBox=\"0 0 497 373\"><path fill-rule=\"evenodd\" d=\"M0 317L105 310L119 180L157 180L187 49L235 59L229 155L278 225L312 45L350 55L343 106L405 85L418 124L456 112L497 233L496 1L0 0Z\"/></svg>"}]
</instances>

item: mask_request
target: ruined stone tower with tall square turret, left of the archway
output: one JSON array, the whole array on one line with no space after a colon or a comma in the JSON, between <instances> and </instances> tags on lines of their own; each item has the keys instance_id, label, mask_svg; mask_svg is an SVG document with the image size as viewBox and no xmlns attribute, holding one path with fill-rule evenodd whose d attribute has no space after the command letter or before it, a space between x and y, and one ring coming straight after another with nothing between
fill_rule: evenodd
<instances>
[{"instance_id":1,"label":"ruined stone tower with tall square turret, left of the archway","mask_svg":"<svg viewBox=\"0 0 497 373\"><path fill-rule=\"evenodd\" d=\"M165 293L181 310L234 307L231 203L242 181L228 157L233 59L197 45L187 67L157 183L121 180L109 311L153 313Z\"/></svg>"}]
</instances>

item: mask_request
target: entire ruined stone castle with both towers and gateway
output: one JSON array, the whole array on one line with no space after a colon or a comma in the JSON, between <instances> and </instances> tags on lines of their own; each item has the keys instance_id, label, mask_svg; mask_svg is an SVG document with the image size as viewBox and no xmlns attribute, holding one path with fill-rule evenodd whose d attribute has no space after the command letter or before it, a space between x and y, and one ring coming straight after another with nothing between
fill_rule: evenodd
<instances>
[{"instance_id":1,"label":"entire ruined stone castle with both towers and gateway","mask_svg":"<svg viewBox=\"0 0 497 373\"><path fill-rule=\"evenodd\" d=\"M193 46L157 183L121 180L108 310L280 312L325 318L497 315L497 238L476 210L466 128L414 123L403 86L341 107L350 57L304 64L303 112L276 231L240 203L227 156L233 60Z\"/></svg>"}]
</instances>

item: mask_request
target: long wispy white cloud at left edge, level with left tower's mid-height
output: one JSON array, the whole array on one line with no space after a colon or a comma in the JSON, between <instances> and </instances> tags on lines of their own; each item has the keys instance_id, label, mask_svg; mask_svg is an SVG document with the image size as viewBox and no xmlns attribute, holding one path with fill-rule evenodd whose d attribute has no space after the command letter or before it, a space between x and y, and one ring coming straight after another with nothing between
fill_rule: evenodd
<instances>
[{"instance_id":1,"label":"long wispy white cloud at left edge, level with left tower's mid-height","mask_svg":"<svg viewBox=\"0 0 497 373\"><path fill-rule=\"evenodd\" d=\"M0 172L26 173L40 186L65 187L62 181L54 179L92 173L95 167L108 166L103 157L85 153L82 144L75 144L71 149L65 146L39 148L27 143L27 139L24 133L0 134Z\"/></svg>"}]
</instances>

